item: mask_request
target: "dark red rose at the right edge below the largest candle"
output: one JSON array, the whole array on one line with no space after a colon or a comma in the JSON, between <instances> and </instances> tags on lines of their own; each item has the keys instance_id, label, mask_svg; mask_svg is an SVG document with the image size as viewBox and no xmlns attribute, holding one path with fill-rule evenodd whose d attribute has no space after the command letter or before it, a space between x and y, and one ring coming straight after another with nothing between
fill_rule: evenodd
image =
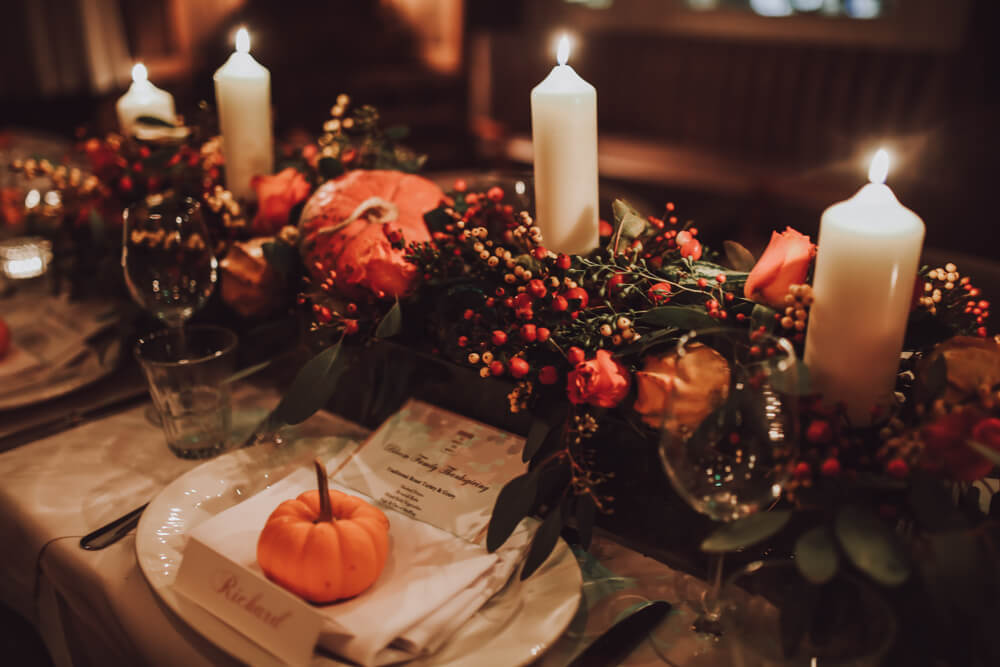
<instances>
[{"instance_id":1,"label":"dark red rose at the right edge below the largest candle","mask_svg":"<svg viewBox=\"0 0 1000 667\"><path fill-rule=\"evenodd\" d=\"M993 463L969 447L968 440L1000 451L1000 419L984 419L975 410L950 412L921 429L920 435L924 468L960 482L982 479L993 469Z\"/></svg>"}]
</instances>

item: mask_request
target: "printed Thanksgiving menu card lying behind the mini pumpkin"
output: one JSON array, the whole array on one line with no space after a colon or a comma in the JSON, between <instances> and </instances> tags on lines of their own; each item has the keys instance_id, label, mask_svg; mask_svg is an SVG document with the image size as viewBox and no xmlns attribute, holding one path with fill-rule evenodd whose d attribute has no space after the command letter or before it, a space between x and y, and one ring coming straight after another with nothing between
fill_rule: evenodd
<instances>
[{"instance_id":1,"label":"printed Thanksgiving menu card lying behind the mini pumpkin","mask_svg":"<svg viewBox=\"0 0 1000 667\"><path fill-rule=\"evenodd\" d=\"M524 439L410 400L333 478L376 503L477 541L497 494L523 473Z\"/></svg>"}]
</instances>

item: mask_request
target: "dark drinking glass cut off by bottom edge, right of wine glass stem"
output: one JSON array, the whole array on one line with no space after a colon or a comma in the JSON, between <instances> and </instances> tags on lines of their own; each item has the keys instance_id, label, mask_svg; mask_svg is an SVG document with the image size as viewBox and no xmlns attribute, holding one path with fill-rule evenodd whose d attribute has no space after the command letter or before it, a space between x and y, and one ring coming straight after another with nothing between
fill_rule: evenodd
<instances>
[{"instance_id":1,"label":"dark drinking glass cut off by bottom edge, right of wine glass stem","mask_svg":"<svg viewBox=\"0 0 1000 667\"><path fill-rule=\"evenodd\" d=\"M811 584L793 561L750 563L729 577L723 599L739 667L877 667L896 637L893 611L871 586L843 575Z\"/></svg>"}]
</instances>

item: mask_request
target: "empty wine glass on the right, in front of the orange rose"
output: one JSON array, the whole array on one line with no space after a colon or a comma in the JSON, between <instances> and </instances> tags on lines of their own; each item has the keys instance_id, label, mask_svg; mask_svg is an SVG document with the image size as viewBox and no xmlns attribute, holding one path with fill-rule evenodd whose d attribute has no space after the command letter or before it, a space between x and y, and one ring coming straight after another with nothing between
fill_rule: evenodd
<instances>
[{"instance_id":1,"label":"empty wine glass on the right, in front of the orange rose","mask_svg":"<svg viewBox=\"0 0 1000 667\"><path fill-rule=\"evenodd\" d=\"M762 331L718 328L681 337L662 415L659 455L674 489L715 521L773 505L797 446L795 350ZM696 632L718 636L722 554L695 602Z\"/></svg>"}]
</instances>

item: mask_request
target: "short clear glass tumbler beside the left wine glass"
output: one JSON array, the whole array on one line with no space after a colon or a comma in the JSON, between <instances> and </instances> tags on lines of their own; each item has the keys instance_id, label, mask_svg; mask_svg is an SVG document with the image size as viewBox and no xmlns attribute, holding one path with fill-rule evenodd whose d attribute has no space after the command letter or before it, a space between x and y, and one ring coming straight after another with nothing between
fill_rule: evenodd
<instances>
[{"instance_id":1,"label":"short clear glass tumbler beside the left wine glass","mask_svg":"<svg viewBox=\"0 0 1000 667\"><path fill-rule=\"evenodd\" d=\"M135 356L170 451L209 458L225 450L229 438L237 339L216 326L190 327L185 338L181 347L169 331L154 333L136 343Z\"/></svg>"}]
</instances>

